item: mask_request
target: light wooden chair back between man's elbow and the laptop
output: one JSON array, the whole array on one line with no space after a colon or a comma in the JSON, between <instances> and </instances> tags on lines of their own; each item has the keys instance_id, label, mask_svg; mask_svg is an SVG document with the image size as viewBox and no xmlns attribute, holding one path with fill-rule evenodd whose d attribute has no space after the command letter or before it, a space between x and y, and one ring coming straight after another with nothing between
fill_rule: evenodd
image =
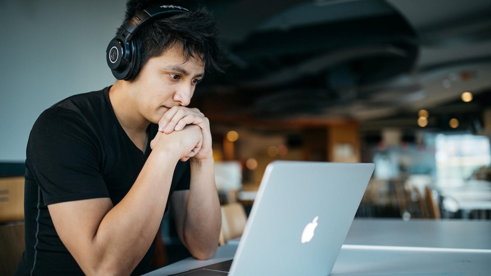
<instances>
[{"instance_id":1,"label":"light wooden chair back between man's elbow and the laptop","mask_svg":"<svg viewBox=\"0 0 491 276\"><path fill-rule=\"evenodd\" d=\"M247 216L240 203L230 203L221 206L220 245L229 240L239 238L246 227Z\"/></svg>"}]
</instances>

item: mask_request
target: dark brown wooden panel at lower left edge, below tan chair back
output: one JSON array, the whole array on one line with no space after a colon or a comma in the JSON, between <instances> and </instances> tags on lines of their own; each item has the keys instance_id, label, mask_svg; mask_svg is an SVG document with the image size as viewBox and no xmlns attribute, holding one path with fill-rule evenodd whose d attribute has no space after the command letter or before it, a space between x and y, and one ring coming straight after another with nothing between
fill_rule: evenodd
<instances>
[{"instance_id":1,"label":"dark brown wooden panel at lower left edge, below tan chair back","mask_svg":"<svg viewBox=\"0 0 491 276\"><path fill-rule=\"evenodd\" d=\"M24 223L1 225L0 245L0 275L13 275L26 248Z\"/></svg>"}]
</instances>

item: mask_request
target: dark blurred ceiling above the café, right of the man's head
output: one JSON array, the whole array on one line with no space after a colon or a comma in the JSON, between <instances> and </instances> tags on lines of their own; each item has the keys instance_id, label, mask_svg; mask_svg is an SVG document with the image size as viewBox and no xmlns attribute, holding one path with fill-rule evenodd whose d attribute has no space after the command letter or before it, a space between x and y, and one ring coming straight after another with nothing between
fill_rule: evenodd
<instances>
[{"instance_id":1,"label":"dark blurred ceiling above the caf\u00e9, right of the man's head","mask_svg":"<svg viewBox=\"0 0 491 276\"><path fill-rule=\"evenodd\" d=\"M427 109L438 128L491 103L489 0L205 4L231 65L203 82L195 103L221 103L218 118L343 118L377 129L417 127ZM464 91L475 100L462 102Z\"/></svg>"}]
</instances>

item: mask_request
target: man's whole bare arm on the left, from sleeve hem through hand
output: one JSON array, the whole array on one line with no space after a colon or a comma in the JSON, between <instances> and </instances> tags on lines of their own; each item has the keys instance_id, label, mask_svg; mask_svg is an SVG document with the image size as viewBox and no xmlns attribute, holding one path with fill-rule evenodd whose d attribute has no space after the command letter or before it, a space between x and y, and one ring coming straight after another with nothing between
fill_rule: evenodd
<instances>
[{"instance_id":1,"label":"man's whole bare arm on the left, from sleeve hem through hand","mask_svg":"<svg viewBox=\"0 0 491 276\"><path fill-rule=\"evenodd\" d=\"M129 275L147 252L164 213L175 165L201 139L197 127L179 133L173 140L181 146L170 143L170 135L164 142L152 141L153 151L135 184L116 206L109 198L48 205L58 236L86 275Z\"/></svg>"}]
</instances>

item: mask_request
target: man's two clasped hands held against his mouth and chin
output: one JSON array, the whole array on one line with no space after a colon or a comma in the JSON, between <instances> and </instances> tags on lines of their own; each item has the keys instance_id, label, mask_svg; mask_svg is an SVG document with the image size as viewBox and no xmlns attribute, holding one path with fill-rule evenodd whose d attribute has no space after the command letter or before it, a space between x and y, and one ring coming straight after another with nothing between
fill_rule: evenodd
<instances>
[{"instance_id":1,"label":"man's two clasped hands held against his mouth and chin","mask_svg":"<svg viewBox=\"0 0 491 276\"><path fill-rule=\"evenodd\" d=\"M171 139L179 141L181 161L213 158L210 121L197 108L176 106L167 110L159 121L159 132L150 147L153 150L158 143Z\"/></svg>"}]
</instances>

